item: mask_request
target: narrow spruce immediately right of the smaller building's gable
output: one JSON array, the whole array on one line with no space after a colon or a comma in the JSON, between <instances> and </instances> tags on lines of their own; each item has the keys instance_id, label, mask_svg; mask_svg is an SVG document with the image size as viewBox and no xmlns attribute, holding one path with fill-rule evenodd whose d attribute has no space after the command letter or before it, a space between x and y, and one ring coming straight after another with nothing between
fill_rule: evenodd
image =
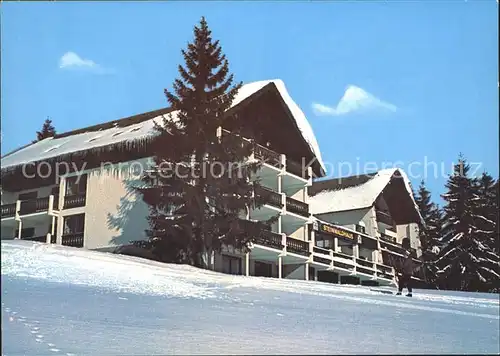
<instances>
[{"instance_id":1,"label":"narrow spruce immediately right of the smaller building's gable","mask_svg":"<svg viewBox=\"0 0 500 356\"><path fill-rule=\"evenodd\" d=\"M425 187L422 180L418 187L415 201L424 220L424 224L419 224L419 239L422 248L422 262L424 275L427 283L436 286L437 271L436 260L440 250L440 239L442 230L442 214L439 206L431 200L431 193Z\"/></svg>"}]
</instances>

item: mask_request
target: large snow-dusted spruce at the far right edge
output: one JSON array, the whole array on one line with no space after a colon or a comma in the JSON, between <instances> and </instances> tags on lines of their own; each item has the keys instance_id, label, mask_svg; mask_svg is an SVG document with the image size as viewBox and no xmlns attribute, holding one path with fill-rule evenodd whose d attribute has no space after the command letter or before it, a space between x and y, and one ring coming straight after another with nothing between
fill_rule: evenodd
<instances>
[{"instance_id":1,"label":"large snow-dusted spruce at the far right edge","mask_svg":"<svg viewBox=\"0 0 500 356\"><path fill-rule=\"evenodd\" d=\"M470 166L460 155L459 163L446 183L443 194L444 244L437 264L441 287L455 290L489 291L488 281L499 278L498 261L478 229L480 197L476 179L469 177Z\"/></svg>"}]
</instances>

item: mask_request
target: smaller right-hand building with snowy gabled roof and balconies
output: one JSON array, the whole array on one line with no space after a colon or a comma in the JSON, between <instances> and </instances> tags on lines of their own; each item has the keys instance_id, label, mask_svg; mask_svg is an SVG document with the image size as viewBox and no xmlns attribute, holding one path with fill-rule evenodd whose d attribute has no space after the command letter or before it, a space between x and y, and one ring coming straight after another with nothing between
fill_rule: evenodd
<instances>
[{"instance_id":1,"label":"smaller right-hand building with snowy gabled roof and balconies","mask_svg":"<svg viewBox=\"0 0 500 356\"><path fill-rule=\"evenodd\" d=\"M409 241L414 264L421 264L418 226L422 217L401 169L315 181L309 194L311 212L320 222L351 231L347 239L345 234L323 241L316 238L316 245L357 259L363 266L357 268L361 282L375 266L386 271L399 267L404 259L404 239ZM421 269L416 268L414 279L423 283Z\"/></svg>"}]
</instances>

